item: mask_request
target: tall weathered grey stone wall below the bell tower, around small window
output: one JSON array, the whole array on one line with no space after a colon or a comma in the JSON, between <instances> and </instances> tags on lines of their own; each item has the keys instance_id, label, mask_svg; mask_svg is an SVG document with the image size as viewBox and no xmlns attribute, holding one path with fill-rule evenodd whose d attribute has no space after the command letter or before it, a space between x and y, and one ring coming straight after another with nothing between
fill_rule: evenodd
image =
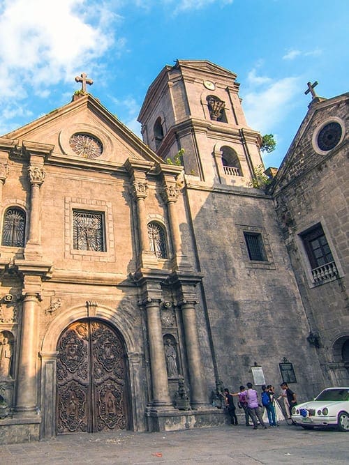
<instances>
[{"instance_id":1,"label":"tall weathered grey stone wall below the bell tower, around small window","mask_svg":"<svg viewBox=\"0 0 349 465\"><path fill-rule=\"evenodd\" d=\"M255 191L258 192L258 191ZM253 382L251 367L262 366L267 383L279 386L283 357L294 364L299 399L323 386L309 325L299 296L272 199L253 190L209 194L189 190L205 305L219 377L235 392ZM249 261L243 231L263 235L268 263Z\"/></svg>"}]
</instances>

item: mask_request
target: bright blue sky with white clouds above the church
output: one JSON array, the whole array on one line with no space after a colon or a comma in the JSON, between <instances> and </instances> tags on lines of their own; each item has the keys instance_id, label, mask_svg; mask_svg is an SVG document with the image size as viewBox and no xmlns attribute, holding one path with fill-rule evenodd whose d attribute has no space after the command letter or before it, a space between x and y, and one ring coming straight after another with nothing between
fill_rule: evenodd
<instances>
[{"instance_id":1,"label":"bright blue sky with white clouds above the church","mask_svg":"<svg viewBox=\"0 0 349 465\"><path fill-rule=\"evenodd\" d=\"M279 167L310 97L348 91L347 0L0 0L0 134L70 102L75 76L136 134L149 84L176 59L237 74L248 124Z\"/></svg>"}]
</instances>

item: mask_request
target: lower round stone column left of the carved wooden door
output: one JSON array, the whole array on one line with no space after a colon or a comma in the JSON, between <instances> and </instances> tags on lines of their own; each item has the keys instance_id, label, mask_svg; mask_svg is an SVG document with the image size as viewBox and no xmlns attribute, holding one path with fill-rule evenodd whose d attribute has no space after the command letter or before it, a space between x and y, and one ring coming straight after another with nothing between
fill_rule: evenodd
<instances>
[{"instance_id":1,"label":"lower round stone column left of the carved wooden door","mask_svg":"<svg viewBox=\"0 0 349 465\"><path fill-rule=\"evenodd\" d=\"M25 292L22 309L15 411L33 416L37 406L38 293Z\"/></svg>"}]
</instances>

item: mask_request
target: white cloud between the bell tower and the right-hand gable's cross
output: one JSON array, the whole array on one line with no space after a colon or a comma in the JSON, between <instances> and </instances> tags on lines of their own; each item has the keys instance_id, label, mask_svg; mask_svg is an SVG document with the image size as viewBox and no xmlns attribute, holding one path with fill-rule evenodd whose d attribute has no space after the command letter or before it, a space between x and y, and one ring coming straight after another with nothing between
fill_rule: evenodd
<instances>
[{"instance_id":1,"label":"white cloud between the bell tower and the right-hand gable's cross","mask_svg":"<svg viewBox=\"0 0 349 465\"><path fill-rule=\"evenodd\" d=\"M276 125L292 110L292 100L299 93L300 78L263 79L265 85L260 91L248 91L243 104L248 125L265 134L274 132Z\"/></svg>"}]
</instances>

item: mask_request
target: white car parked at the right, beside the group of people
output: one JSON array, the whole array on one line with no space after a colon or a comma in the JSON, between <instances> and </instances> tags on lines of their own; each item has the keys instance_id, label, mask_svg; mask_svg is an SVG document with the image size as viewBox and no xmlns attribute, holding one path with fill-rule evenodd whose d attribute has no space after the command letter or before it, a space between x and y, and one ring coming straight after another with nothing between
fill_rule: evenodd
<instances>
[{"instance_id":1,"label":"white car parked at the right, beside the group of people","mask_svg":"<svg viewBox=\"0 0 349 465\"><path fill-rule=\"evenodd\" d=\"M349 388L327 388L314 400L294 406L292 420L304 429L336 426L349 431Z\"/></svg>"}]
</instances>

